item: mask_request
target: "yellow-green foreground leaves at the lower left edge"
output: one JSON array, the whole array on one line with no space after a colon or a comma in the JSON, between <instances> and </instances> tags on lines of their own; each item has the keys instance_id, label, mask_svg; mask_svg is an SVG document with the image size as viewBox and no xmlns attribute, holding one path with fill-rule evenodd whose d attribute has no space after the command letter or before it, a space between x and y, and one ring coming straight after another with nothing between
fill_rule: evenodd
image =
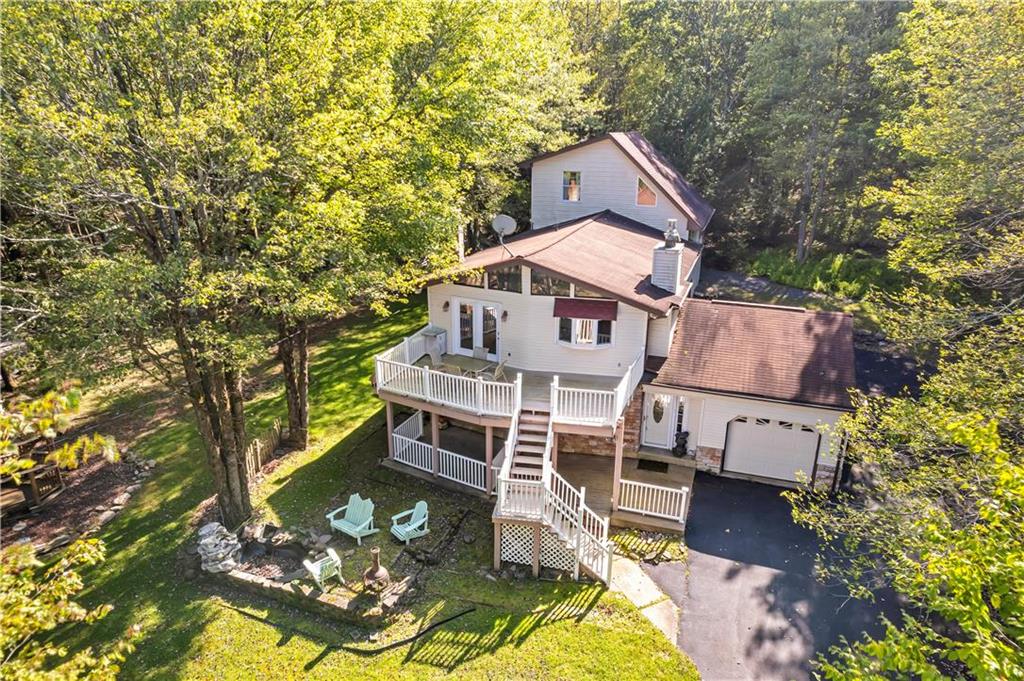
<instances>
[{"instance_id":1,"label":"yellow-green foreground leaves at the lower left edge","mask_svg":"<svg viewBox=\"0 0 1024 681\"><path fill-rule=\"evenodd\" d=\"M0 408L0 474L17 480L19 471L34 466L36 462L28 456L31 448L67 430L78 405L79 393L68 390ZM94 455L115 460L113 440L95 434L83 436L49 453L47 460L74 468ZM87 648L69 656L66 648L45 638L59 626L91 624L110 612L110 605L89 609L74 600L84 587L79 568L102 560L103 545L96 539L75 542L49 565L36 558L31 543L0 550L0 665L4 679L99 681L117 677L120 664L132 649L131 632L99 655Z\"/></svg>"}]
</instances>

